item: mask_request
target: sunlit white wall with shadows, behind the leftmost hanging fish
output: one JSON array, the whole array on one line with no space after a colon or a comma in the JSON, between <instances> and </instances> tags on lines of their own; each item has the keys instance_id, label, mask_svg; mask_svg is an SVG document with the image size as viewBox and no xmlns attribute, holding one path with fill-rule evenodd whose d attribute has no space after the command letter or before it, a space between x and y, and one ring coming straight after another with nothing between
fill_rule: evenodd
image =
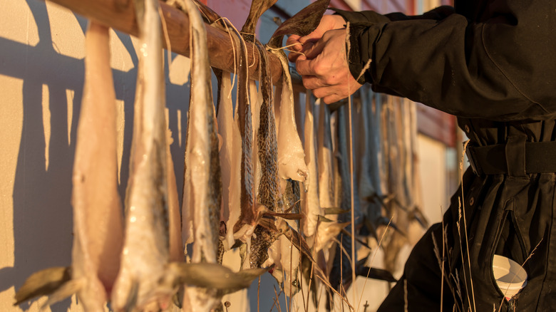
<instances>
[{"instance_id":1,"label":"sunlit white wall with shadows, behind the leftmost hanging fish","mask_svg":"<svg viewBox=\"0 0 556 312\"><path fill-rule=\"evenodd\" d=\"M0 7L0 311L38 311L44 299L31 307L12 303L15 288L31 273L71 263L71 171L87 21L48 1L0 0ZM123 191L136 40L111 31L110 43ZM189 61L174 55L166 71L171 149L173 155L183 155ZM175 157L176 172L183 172L182 157ZM181 183L178 180L178 189ZM52 311L70 306L78 311L72 302L58 303Z\"/></svg>"}]
</instances>

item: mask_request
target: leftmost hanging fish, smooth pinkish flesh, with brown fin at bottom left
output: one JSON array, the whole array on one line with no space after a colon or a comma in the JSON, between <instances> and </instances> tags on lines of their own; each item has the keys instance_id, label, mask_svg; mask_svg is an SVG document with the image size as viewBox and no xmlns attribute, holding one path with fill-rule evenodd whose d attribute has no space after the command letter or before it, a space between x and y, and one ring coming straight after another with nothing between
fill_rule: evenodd
<instances>
[{"instance_id":1,"label":"leftmost hanging fish, smooth pinkish flesh, with brown fin at bottom left","mask_svg":"<svg viewBox=\"0 0 556 312\"><path fill-rule=\"evenodd\" d=\"M90 21L86 33L85 87L73 165L71 268L31 275L16 293L16 305L51 294L47 306L77 293L85 311L104 311L118 274L123 229L108 30Z\"/></svg>"}]
</instances>

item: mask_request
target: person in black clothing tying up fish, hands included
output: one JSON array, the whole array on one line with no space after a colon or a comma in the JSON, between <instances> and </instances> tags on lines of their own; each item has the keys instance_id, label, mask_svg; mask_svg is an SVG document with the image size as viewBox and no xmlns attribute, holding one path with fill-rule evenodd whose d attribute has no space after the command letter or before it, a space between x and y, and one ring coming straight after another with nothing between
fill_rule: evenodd
<instances>
[{"instance_id":1,"label":"person in black clothing tying up fish, hands included","mask_svg":"<svg viewBox=\"0 0 556 312\"><path fill-rule=\"evenodd\" d=\"M290 61L325 103L371 83L457 116L470 139L446 233L428 229L379 311L556 309L556 1L456 0L422 16L336 11L292 43L304 55ZM443 274L433 240L446 252ZM493 277L495 254L525 263L527 285L510 301Z\"/></svg>"}]
</instances>

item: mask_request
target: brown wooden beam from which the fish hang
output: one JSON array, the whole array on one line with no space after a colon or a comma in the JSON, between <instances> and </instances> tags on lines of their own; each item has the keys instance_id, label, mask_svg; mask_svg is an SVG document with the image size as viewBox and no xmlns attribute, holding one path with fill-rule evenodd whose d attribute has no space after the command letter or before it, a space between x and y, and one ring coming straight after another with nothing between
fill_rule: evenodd
<instances>
[{"instance_id":1,"label":"brown wooden beam from which the fish hang","mask_svg":"<svg viewBox=\"0 0 556 312\"><path fill-rule=\"evenodd\" d=\"M129 33L131 36L138 36L139 34L133 0L49 1L65 6L67 9L87 19L94 19L118 31ZM173 6L168 6L163 1L159 1L159 4L168 28L172 51L189 57L189 18L182 11L175 9ZM234 53L232 52L230 36L225 31L210 25L206 26L210 65L223 71L234 72ZM160 36L163 36L163 34L160 34ZM163 42L166 48L165 40ZM247 43L247 53L249 64L254 64L249 67L249 78L258 80L259 53L253 53L252 43ZM278 58L272 53L269 53L269 61L272 81L276 83L279 81L280 76L282 76L282 66Z\"/></svg>"}]
</instances>

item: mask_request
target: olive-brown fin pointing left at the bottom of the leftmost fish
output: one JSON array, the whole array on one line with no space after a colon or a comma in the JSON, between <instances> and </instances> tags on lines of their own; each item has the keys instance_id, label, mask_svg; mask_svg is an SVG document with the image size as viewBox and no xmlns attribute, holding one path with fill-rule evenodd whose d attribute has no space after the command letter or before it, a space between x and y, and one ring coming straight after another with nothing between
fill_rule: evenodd
<instances>
[{"instance_id":1,"label":"olive-brown fin pointing left at the bottom of the leftmost fish","mask_svg":"<svg viewBox=\"0 0 556 312\"><path fill-rule=\"evenodd\" d=\"M23 286L16 292L14 306L18 306L31 298L48 296L70 280L71 268L69 267L57 266L35 272L26 279Z\"/></svg>"}]
</instances>

